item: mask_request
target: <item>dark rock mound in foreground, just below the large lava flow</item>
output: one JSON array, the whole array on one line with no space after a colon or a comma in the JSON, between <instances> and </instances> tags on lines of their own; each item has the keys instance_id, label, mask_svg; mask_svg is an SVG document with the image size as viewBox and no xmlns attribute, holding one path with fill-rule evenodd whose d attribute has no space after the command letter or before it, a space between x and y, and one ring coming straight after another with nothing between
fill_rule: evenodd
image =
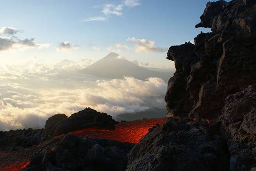
<instances>
[{"instance_id":1,"label":"dark rock mound in foreground, just below the large lava flow","mask_svg":"<svg viewBox=\"0 0 256 171\"><path fill-rule=\"evenodd\" d=\"M67 134L48 142L23 171L124 171L132 147Z\"/></svg>"}]
</instances>

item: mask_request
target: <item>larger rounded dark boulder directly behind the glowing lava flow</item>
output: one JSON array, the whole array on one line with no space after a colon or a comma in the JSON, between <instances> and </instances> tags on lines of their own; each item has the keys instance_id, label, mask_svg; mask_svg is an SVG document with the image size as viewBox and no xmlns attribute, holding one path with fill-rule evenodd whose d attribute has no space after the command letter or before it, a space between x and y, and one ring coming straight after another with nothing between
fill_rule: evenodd
<instances>
[{"instance_id":1,"label":"larger rounded dark boulder directly behind the glowing lava flow","mask_svg":"<svg viewBox=\"0 0 256 171\"><path fill-rule=\"evenodd\" d=\"M116 123L117 122L107 113L101 113L94 109L86 108L58 122L54 126L53 136L94 126L104 129L114 129Z\"/></svg>"}]
</instances>

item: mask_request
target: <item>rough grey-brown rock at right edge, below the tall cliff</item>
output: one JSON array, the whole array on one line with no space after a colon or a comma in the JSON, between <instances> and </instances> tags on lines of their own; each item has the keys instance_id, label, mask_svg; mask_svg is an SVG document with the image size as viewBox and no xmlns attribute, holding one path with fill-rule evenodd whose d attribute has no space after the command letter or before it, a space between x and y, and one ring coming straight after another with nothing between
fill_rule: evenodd
<instances>
[{"instance_id":1,"label":"rough grey-brown rock at right edge, below the tall cliff","mask_svg":"<svg viewBox=\"0 0 256 171\"><path fill-rule=\"evenodd\" d=\"M230 171L256 167L256 85L229 95L222 109L222 134L228 140Z\"/></svg>"}]
</instances>

